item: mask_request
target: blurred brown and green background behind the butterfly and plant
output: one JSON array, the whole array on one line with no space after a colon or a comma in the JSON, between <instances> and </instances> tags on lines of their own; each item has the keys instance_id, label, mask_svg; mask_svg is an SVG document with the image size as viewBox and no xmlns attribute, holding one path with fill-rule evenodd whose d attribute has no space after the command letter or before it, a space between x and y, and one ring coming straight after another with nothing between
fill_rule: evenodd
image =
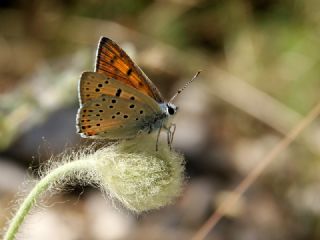
<instances>
[{"instance_id":1,"label":"blurred brown and green background behind the butterfly and plant","mask_svg":"<svg viewBox=\"0 0 320 240\"><path fill-rule=\"evenodd\" d=\"M187 185L135 216L92 188L39 204L20 239L188 239L319 101L317 0L0 0L0 226L23 184L76 134L77 81L100 36L119 43L168 99ZM319 121L287 148L207 239L320 239Z\"/></svg>"}]
</instances>

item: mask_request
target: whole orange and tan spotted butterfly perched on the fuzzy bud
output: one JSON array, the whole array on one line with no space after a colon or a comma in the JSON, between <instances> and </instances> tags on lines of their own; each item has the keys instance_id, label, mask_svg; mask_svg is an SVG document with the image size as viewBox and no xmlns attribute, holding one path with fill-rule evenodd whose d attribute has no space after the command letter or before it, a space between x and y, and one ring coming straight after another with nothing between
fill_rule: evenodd
<instances>
[{"instance_id":1,"label":"whole orange and tan spotted butterfly perched on the fuzzy bud","mask_svg":"<svg viewBox=\"0 0 320 240\"><path fill-rule=\"evenodd\" d=\"M168 120L178 110L172 100L183 89L166 102L125 51L102 37L95 72L80 77L77 131L84 138L119 140L158 130L158 143L164 128L171 146L175 124L168 126Z\"/></svg>"}]
</instances>

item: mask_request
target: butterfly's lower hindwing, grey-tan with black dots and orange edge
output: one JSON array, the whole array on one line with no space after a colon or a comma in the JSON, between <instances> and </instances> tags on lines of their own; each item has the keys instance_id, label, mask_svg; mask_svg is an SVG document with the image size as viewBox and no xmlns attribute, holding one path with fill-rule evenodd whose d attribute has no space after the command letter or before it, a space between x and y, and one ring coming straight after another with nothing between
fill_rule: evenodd
<instances>
[{"instance_id":1,"label":"butterfly's lower hindwing, grey-tan with black dots and orange edge","mask_svg":"<svg viewBox=\"0 0 320 240\"><path fill-rule=\"evenodd\" d=\"M101 96L80 107L77 129L82 137L130 138L146 131L157 114L159 112L141 102Z\"/></svg>"}]
</instances>

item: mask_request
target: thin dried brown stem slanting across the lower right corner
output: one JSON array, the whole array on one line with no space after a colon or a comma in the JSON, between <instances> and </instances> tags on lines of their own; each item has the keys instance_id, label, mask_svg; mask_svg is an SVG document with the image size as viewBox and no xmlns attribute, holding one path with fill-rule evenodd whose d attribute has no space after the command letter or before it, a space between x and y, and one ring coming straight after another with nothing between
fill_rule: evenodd
<instances>
[{"instance_id":1,"label":"thin dried brown stem slanting across the lower right corner","mask_svg":"<svg viewBox=\"0 0 320 240\"><path fill-rule=\"evenodd\" d=\"M297 138L297 136L320 114L320 102L302 119L287 135L283 138L262 160L258 165L251 170L248 176L235 188L234 194L223 202L211 217L202 225L202 227L192 237L192 240L204 239L211 229L225 215L226 211L239 200L241 195L254 183L261 175L263 170L285 149L288 145Z\"/></svg>"}]
</instances>

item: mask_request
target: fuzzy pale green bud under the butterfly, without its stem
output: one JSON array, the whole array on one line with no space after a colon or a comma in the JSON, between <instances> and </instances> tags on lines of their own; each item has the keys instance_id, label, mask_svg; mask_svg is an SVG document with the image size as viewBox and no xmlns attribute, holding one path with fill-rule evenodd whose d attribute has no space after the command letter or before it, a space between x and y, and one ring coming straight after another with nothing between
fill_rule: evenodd
<instances>
[{"instance_id":1,"label":"fuzzy pale green bud under the butterfly, without its stem","mask_svg":"<svg viewBox=\"0 0 320 240\"><path fill-rule=\"evenodd\" d=\"M109 146L98 153L101 187L112 199L140 213L170 204L184 182L184 158L166 143L139 137Z\"/></svg>"}]
</instances>

